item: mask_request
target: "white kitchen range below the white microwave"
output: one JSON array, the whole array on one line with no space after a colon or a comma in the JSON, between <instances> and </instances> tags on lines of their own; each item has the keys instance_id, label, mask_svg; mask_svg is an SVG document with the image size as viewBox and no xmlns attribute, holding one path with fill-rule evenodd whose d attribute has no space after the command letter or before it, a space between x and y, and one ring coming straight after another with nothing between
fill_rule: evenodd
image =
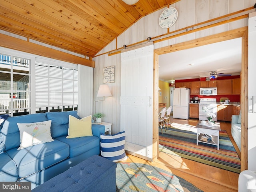
<instances>
[{"instance_id":1,"label":"white kitchen range below the white microwave","mask_svg":"<svg viewBox=\"0 0 256 192\"><path fill-rule=\"evenodd\" d=\"M208 114L214 113L216 117L212 118L213 121L217 121L217 104L216 98L200 98L199 103L199 120L208 120Z\"/></svg>"}]
</instances>

